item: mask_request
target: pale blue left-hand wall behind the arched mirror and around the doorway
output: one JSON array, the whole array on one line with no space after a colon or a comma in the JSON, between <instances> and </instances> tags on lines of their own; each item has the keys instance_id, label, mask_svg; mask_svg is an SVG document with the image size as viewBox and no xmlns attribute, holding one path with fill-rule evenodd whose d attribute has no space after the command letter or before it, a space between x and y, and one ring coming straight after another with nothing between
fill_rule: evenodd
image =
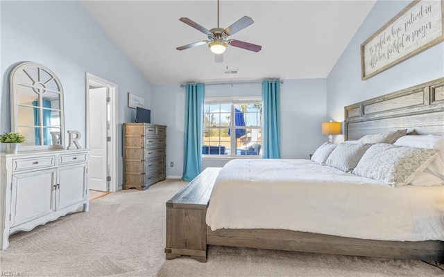
<instances>
[{"instance_id":1,"label":"pale blue left-hand wall behind the arched mirror and around the doorway","mask_svg":"<svg viewBox=\"0 0 444 277\"><path fill-rule=\"evenodd\" d=\"M20 62L49 67L65 91L65 127L78 130L85 147L85 72L119 86L118 120L132 122L127 92L144 96L151 106L151 87L79 1L1 1L0 132L10 131L9 74ZM119 136L119 185L122 184Z\"/></svg>"}]
</instances>

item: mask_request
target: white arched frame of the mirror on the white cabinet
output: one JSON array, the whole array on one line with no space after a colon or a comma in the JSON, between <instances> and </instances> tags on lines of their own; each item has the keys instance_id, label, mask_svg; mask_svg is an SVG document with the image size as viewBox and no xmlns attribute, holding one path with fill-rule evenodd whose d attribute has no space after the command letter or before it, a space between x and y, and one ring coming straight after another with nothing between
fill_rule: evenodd
<instances>
[{"instance_id":1,"label":"white arched frame of the mirror on the white cabinet","mask_svg":"<svg viewBox=\"0 0 444 277\"><path fill-rule=\"evenodd\" d=\"M64 149L65 148L65 105L63 102L63 87L62 83L58 79L57 75L51 71L51 69L47 68L42 64L37 64L36 62L22 62L17 64L17 66L12 69L9 78L10 84L10 112L11 112L11 132L19 132L19 109L18 109L18 99L17 99L17 89L19 87L18 82L16 81L17 74L23 71L24 69L37 67L37 69L43 69L51 75L54 79L58 87L60 88L60 144L56 145L22 145L19 148L21 150L53 150L53 149ZM41 87L33 87L35 89L41 89ZM29 138L26 138L27 140Z\"/></svg>"}]
</instances>

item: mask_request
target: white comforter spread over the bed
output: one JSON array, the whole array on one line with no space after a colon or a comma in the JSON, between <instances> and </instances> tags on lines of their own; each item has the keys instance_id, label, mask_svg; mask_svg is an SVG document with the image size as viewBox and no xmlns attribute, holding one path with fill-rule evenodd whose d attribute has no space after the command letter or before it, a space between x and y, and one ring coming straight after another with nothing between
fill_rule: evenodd
<instances>
[{"instance_id":1,"label":"white comforter spread over the bed","mask_svg":"<svg viewBox=\"0 0 444 277\"><path fill-rule=\"evenodd\" d=\"M213 231L444 240L444 186L393 188L309 160L238 159L219 173L206 220Z\"/></svg>"}]
</instances>

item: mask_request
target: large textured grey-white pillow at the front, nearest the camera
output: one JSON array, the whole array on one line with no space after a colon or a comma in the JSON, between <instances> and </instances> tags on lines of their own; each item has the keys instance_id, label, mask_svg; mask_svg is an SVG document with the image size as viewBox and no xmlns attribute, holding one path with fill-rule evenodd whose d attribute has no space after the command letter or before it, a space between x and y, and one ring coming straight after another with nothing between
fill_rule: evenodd
<instances>
[{"instance_id":1,"label":"large textured grey-white pillow at the front, nearest the camera","mask_svg":"<svg viewBox=\"0 0 444 277\"><path fill-rule=\"evenodd\" d=\"M379 143L368 148L353 173L382 181L391 186L404 186L417 170L436 157L439 150L410 148Z\"/></svg>"}]
</instances>

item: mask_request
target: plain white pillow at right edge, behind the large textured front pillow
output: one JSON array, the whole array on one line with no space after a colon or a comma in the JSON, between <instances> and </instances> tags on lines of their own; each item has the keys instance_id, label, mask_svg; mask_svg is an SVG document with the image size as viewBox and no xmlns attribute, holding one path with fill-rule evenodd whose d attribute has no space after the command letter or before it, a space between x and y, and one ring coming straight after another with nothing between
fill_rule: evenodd
<instances>
[{"instance_id":1,"label":"plain white pillow at right edge, behind the large textured front pillow","mask_svg":"<svg viewBox=\"0 0 444 277\"><path fill-rule=\"evenodd\" d=\"M393 145L441 150L438 157L436 157L424 171L432 173L444 181L444 136L436 136L433 134L401 136Z\"/></svg>"}]
</instances>

